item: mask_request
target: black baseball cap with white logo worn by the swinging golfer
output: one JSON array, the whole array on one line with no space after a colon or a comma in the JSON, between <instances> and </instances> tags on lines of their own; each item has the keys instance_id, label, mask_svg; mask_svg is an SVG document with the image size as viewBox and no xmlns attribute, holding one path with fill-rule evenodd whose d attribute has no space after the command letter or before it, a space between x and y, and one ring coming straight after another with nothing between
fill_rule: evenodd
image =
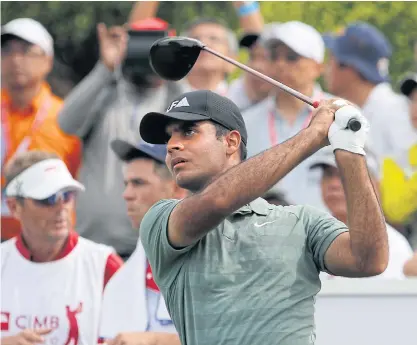
<instances>
[{"instance_id":1,"label":"black baseball cap with white logo worn by the swinging golfer","mask_svg":"<svg viewBox=\"0 0 417 345\"><path fill-rule=\"evenodd\" d=\"M229 130L237 130L247 145L248 134L239 108L230 99L215 92L187 92L173 100L165 113L147 113L139 126L141 137L151 144L165 144L169 140L165 129L173 119L216 122Z\"/></svg>"}]
</instances>

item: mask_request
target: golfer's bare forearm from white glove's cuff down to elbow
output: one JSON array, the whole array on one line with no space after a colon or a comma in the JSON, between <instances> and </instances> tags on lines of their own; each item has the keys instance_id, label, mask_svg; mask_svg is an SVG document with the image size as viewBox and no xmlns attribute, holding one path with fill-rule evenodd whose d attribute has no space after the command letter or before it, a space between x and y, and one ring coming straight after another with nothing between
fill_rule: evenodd
<instances>
[{"instance_id":1,"label":"golfer's bare forearm from white glove's cuff down to elbow","mask_svg":"<svg viewBox=\"0 0 417 345\"><path fill-rule=\"evenodd\" d=\"M385 219L364 156L335 151L348 209L352 254L361 271L382 271L388 263Z\"/></svg>"}]
</instances>

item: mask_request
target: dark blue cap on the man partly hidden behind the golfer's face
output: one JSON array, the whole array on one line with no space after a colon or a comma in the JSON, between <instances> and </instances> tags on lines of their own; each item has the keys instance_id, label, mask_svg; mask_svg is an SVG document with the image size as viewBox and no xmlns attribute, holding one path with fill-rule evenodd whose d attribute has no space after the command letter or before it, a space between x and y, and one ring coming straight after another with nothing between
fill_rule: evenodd
<instances>
[{"instance_id":1,"label":"dark blue cap on the man partly hidden behind the golfer's face","mask_svg":"<svg viewBox=\"0 0 417 345\"><path fill-rule=\"evenodd\" d=\"M160 163L165 163L167 154L166 145L154 145L141 141L138 145L116 139L110 143L113 152L124 162L137 158L149 158Z\"/></svg>"}]
</instances>

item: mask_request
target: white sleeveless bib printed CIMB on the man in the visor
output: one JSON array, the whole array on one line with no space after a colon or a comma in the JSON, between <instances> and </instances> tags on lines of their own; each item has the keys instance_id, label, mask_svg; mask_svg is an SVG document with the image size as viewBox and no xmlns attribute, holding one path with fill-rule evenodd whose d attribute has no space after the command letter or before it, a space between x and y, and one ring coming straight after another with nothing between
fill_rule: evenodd
<instances>
[{"instance_id":1,"label":"white sleeveless bib printed CIMB on the man in the visor","mask_svg":"<svg viewBox=\"0 0 417 345\"><path fill-rule=\"evenodd\" d=\"M1 336L51 328L45 345L96 344L103 288L120 267L111 247L72 232L60 257L30 260L20 237L1 244Z\"/></svg>"}]
</instances>

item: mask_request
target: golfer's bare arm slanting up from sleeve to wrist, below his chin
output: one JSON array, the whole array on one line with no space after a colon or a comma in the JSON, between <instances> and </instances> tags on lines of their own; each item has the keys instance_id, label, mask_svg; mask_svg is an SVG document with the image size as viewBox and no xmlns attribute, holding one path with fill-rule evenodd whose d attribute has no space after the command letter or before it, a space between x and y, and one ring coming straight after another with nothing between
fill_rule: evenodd
<instances>
[{"instance_id":1,"label":"golfer's bare arm slanting up from sleeve to wrist, below his chin","mask_svg":"<svg viewBox=\"0 0 417 345\"><path fill-rule=\"evenodd\" d=\"M169 227L180 229L181 239L173 244L187 245L201 238L232 212L263 195L319 148L319 136L307 128L229 169L201 193L175 207Z\"/></svg>"}]
</instances>

